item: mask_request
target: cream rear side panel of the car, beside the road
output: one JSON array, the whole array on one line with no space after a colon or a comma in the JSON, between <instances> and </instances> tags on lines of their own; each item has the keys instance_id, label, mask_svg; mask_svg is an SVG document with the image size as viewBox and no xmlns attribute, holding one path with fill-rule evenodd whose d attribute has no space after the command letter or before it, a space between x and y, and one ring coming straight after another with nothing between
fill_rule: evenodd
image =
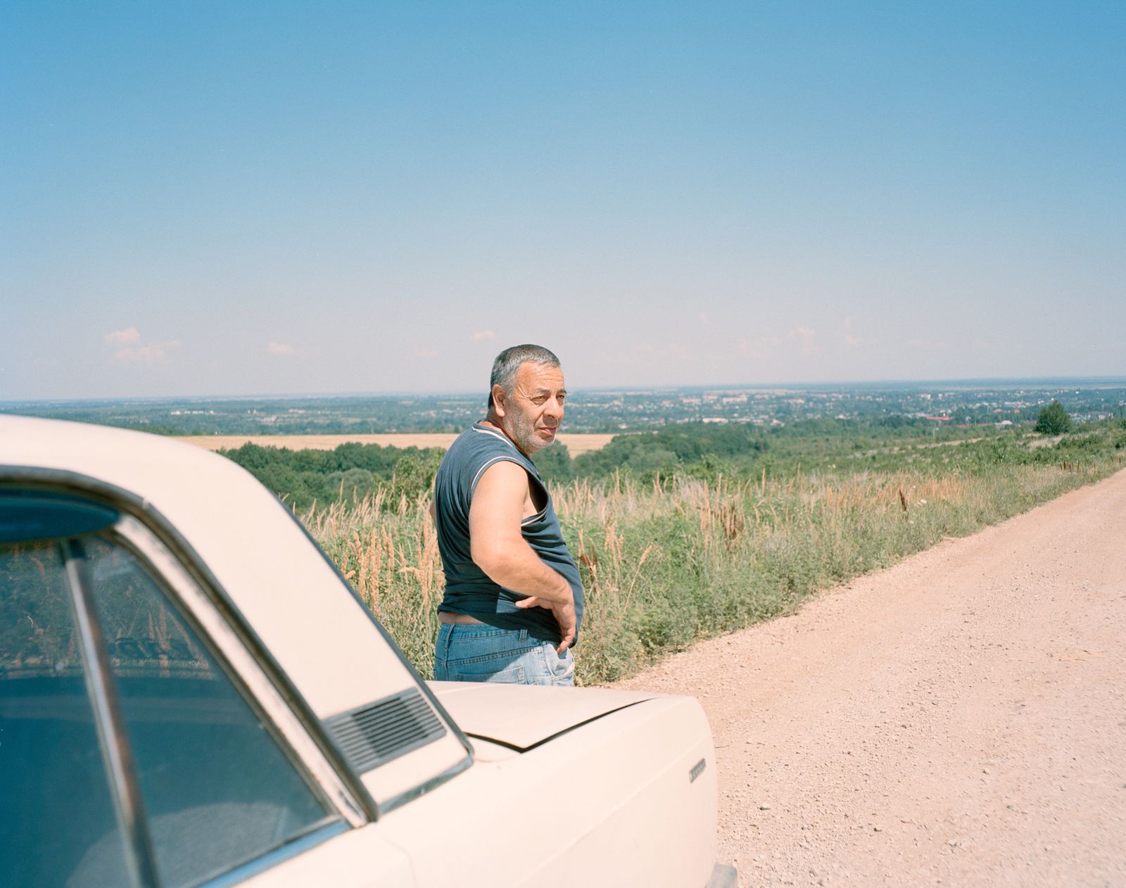
<instances>
[{"instance_id":1,"label":"cream rear side panel of the car, beside the road","mask_svg":"<svg viewBox=\"0 0 1126 888\"><path fill-rule=\"evenodd\" d=\"M716 852L706 724L694 698L643 701L510 760L479 762L382 825L419 862L420 886L704 886ZM427 824L441 810L495 827L466 819L436 834Z\"/></svg>"}]
</instances>

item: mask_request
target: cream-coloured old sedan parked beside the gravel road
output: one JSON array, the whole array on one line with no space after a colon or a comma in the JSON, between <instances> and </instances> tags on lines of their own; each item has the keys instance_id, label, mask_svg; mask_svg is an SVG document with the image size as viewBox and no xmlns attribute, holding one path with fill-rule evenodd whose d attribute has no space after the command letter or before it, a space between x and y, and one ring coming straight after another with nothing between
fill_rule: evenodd
<instances>
[{"instance_id":1,"label":"cream-coloured old sedan parked beside the gravel road","mask_svg":"<svg viewBox=\"0 0 1126 888\"><path fill-rule=\"evenodd\" d=\"M423 682L233 463L0 418L0 883L734 885L715 855L694 698Z\"/></svg>"}]
</instances>

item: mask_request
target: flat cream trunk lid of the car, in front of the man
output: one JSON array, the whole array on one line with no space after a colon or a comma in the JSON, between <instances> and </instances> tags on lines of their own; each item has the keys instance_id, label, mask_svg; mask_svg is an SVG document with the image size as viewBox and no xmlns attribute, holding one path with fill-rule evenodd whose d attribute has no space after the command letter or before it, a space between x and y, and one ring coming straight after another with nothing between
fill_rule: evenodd
<instances>
[{"instance_id":1,"label":"flat cream trunk lid of the car, in front of the man","mask_svg":"<svg viewBox=\"0 0 1126 888\"><path fill-rule=\"evenodd\" d=\"M459 681L430 682L438 700L471 737L525 752L588 721L658 694L608 688L540 688Z\"/></svg>"}]
</instances>

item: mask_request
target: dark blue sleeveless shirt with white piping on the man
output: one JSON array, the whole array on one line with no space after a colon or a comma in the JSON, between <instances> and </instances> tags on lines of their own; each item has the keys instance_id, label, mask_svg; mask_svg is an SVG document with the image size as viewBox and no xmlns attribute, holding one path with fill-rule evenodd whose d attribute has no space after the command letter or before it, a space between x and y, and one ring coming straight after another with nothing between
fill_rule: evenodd
<instances>
[{"instance_id":1,"label":"dark blue sleeveless shirt with white piping on the man","mask_svg":"<svg viewBox=\"0 0 1126 888\"><path fill-rule=\"evenodd\" d=\"M582 581L560 530L555 506L535 464L499 429L474 423L457 437L443 457L434 481L438 517L438 550L446 574L446 594L438 610L466 613L501 629L527 629L533 638L563 640L555 615L546 608L517 608L527 598L493 582L470 556L470 504L485 469L500 461L516 463L528 473L531 501L538 511L520 522L525 541L551 568L562 574L574 592L578 628L582 626ZM572 642L572 645L574 643Z\"/></svg>"}]
</instances>

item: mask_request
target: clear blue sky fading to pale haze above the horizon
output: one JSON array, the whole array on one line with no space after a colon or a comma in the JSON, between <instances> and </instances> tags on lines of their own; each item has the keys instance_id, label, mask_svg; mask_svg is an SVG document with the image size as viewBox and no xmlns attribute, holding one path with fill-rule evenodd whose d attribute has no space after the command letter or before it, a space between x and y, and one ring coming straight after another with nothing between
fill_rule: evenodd
<instances>
[{"instance_id":1,"label":"clear blue sky fading to pale haze above the horizon","mask_svg":"<svg viewBox=\"0 0 1126 888\"><path fill-rule=\"evenodd\" d=\"M0 6L0 401L1126 375L1126 3Z\"/></svg>"}]
</instances>

